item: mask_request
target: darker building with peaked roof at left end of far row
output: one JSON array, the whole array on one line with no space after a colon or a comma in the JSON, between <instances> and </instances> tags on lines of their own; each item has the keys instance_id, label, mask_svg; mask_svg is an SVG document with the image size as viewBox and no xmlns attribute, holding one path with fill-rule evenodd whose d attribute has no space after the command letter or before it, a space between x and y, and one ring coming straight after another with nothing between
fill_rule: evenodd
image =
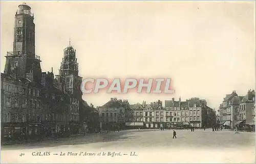
<instances>
[{"instance_id":1,"label":"darker building with peaked roof at left end of far row","mask_svg":"<svg viewBox=\"0 0 256 164\"><path fill-rule=\"evenodd\" d=\"M125 127L125 110L129 109L130 104L127 100L111 100L103 106L97 107L99 113L99 122L102 129L116 129Z\"/></svg>"}]
</instances>

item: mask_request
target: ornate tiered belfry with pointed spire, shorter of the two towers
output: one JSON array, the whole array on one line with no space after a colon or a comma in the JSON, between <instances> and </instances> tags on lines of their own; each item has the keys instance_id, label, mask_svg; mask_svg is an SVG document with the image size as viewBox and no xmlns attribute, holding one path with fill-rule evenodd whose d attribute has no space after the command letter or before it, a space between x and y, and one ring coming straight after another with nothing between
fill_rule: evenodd
<instances>
[{"instance_id":1,"label":"ornate tiered belfry with pointed spire, shorter of the two towers","mask_svg":"<svg viewBox=\"0 0 256 164\"><path fill-rule=\"evenodd\" d=\"M59 75L65 79L66 90L68 90L77 99L82 97L80 84L82 78L78 76L78 62L76 58L76 50L70 44L64 49L64 57L62 58Z\"/></svg>"}]
</instances>

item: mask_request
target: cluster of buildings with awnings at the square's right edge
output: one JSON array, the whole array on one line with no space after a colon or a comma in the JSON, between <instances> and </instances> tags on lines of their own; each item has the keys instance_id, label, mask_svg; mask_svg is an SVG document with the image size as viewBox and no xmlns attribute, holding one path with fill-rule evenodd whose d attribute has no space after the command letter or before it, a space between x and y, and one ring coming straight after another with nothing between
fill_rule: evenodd
<instances>
[{"instance_id":1,"label":"cluster of buildings with awnings at the square's right edge","mask_svg":"<svg viewBox=\"0 0 256 164\"><path fill-rule=\"evenodd\" d=\"M230 129L255 130L255 91L249 89L245 96L234 90L223 98L219 107L219 121Z\"/></svg>"}]
</instances>

